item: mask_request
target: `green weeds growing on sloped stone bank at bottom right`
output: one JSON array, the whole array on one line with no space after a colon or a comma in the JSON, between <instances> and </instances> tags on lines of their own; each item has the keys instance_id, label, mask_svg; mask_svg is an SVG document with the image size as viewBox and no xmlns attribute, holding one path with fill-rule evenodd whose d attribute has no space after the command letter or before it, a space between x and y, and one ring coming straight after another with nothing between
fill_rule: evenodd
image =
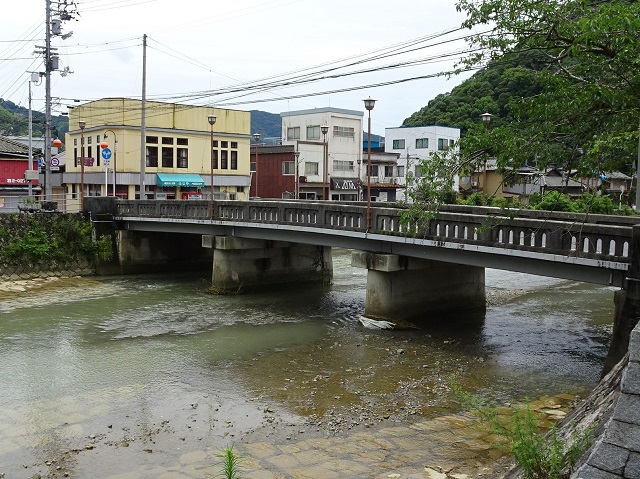
<instances>
[{"instance_id":1,"label":"green weeds growing on sloped stone bank at bottom right","mask_svg":"<svg viewBox=\"0 0 640 479\"><path fill-rule=\"evenodd\" d=\"M590 430L582 432L573 427L565 438L553 424L545 432L544 415L533 411L529 403L506 413L504 408L463 391L455 377L451 379L451 388L463 409L489 425L490 433L498 438L496 446L514 457L525 479L568 477L572 465L589 448Z\"/></svg>"}]
</instances>

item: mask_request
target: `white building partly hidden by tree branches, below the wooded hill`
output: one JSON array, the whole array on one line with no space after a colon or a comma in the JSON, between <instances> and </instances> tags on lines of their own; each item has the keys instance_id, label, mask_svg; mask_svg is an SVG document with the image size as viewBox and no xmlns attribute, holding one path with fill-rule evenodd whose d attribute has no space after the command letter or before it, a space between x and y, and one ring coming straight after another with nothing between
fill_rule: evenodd
<instances>
[{"instance_id":1,"label":"white building partly hidden by tree branches, below the wooded hill","mask_svg":"<svg viewBox=\"0 0 640 479\"><path fill-rule=\"evenodd\" d=\"M427 160L436 151L444 151L452 147L460 139L460 129L449 126L407 126L385 128L385 151L399 153L398 182L402 190L398 190L398 199L406 200L407 173L415 177L422 176L419 163ZM458 191L459 178L455 178L454 191Z\"/></svg>"}]
</instances>

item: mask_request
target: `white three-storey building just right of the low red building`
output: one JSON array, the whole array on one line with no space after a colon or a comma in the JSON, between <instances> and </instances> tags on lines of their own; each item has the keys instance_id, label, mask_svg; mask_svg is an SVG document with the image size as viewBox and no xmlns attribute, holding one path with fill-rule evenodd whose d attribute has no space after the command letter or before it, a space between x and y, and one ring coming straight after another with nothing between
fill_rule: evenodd
<instances>
[{"instance_id":1,"label":"white three-storey building just right of the low red building","mask_svg":"<svg viewBox=\"0 0 640 479\"><path fill-rule=\"evenodd\" d=\"M361 111L316 108L282 118L282 144L295 145L298 197L356 201L361 188Z\"/></svg>"}]
</instances>

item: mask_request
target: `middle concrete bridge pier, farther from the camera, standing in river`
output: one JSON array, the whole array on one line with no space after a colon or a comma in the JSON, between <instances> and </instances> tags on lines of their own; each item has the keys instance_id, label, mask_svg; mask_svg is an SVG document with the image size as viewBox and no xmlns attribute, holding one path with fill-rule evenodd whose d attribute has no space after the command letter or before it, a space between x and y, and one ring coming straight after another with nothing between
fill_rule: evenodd
<instances>
[{"instance_id":1,"label":"middle concrete bridge pier, farther from the camera, standing in river","mask_svg":"<svg viewBox=\"0 0 640 479\"><path fill-rule=\"evenodd\" d=\"M333 279L329 246L208 235L202 245L214 250L211 283L220 294Z\"/></svg>"}]
</instances>

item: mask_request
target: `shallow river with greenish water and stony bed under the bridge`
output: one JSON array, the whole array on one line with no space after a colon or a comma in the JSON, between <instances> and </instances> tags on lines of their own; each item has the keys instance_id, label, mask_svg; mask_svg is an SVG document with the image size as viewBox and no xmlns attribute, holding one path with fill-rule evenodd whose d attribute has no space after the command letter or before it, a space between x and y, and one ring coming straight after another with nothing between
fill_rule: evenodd
<instances>
[{"instance_id":1,"label":"shallow river with greenish water and stony bed under the bridge","mask_svg":"<svg viewBox=\"0 0 640 479\"><path fill-rule=\"evenodd\" d=\"M244 478L474 477L500 454L452 436L452 376L553 407L599 379L613 288L487 270L484 317L381 331L358 322L365 282L335 250L328 287L212 296L193 273L0 293L0 477L214 477L229 446Z\"/></svg>"}]
</instances>

